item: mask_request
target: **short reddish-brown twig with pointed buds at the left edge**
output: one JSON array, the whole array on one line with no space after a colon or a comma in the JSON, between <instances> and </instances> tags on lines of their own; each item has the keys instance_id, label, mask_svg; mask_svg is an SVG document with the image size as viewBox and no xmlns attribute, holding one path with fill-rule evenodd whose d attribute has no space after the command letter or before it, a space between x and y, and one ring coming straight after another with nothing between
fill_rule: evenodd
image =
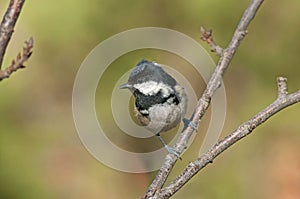
<instances>
[{"instance_id":1,"label":"short reddish-brown twig with pointed buds at the left edge","mask_svg":"<svg viewBox=\"0 0 300 199\"><path fill-rule=\"evenodd\" d=\"M30 38L28 41L25 41L25 46L23 47L22 54L19 53L16 59L13 59L11 65L7 68L0 70L0 81L5 78L8 78L13 72L25 68L24 62L26 62L32 54L33 48L33 39Z\"/></svg>"}]
</instances>

